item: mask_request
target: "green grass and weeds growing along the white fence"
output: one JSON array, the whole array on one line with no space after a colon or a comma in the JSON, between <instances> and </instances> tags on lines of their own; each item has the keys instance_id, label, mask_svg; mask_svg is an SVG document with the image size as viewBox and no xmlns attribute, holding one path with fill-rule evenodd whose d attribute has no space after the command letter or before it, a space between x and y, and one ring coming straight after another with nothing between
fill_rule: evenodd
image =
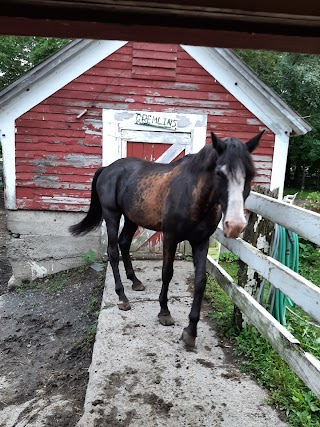
<instances>
[{"instance_id":1,"label":"green grass and weeds growing along the white fence","mask_svg":"<svg viewBox=\"0 0 320 427\"><path fill-rule=\"evenodd\" d=\"M303 243L304 244L304 243ZM309 245L309 244L308 244ZM309 246L302 248L300 268L307 278L320 277L320 254ZM310 256L312 254L312 266ZM220 265L236 280L238 262L234 255L223 254ZM309 276L308 276L309 275ZM206 299L218 324L219 333L231 338L235 353L243 357L242 369L269 390L269 403L283 410L294 427L320 427L320 402L300 378L289 368L254 326L246 325L240 333L233 327L233 303L220 286L208 276ZM320 359L320 329L298 307L287 312L287 329L301 342L301 347Z\"/></svg>"}]
</instances>

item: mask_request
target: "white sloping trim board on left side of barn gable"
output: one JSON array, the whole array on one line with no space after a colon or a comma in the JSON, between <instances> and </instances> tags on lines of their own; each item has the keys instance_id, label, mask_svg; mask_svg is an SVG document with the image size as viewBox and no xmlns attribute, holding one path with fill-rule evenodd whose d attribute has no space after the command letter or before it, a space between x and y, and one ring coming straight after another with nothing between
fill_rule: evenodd
<instances>
[{"instance_id":1,"label":"white sloping trim board on left side of barn gable","mask_svg":"<svg viewBox=\"0 0 320 427\"><path fill-rule=\"evenodd\" d=\"M22 93L5 103L0 110L1 115L10 116L13 119L20 117L125 44L127 44L126 41L108 40L86 44L71 58L48 69L47 74L40 79L31 81Z\"/></svg>"}]
</instances>

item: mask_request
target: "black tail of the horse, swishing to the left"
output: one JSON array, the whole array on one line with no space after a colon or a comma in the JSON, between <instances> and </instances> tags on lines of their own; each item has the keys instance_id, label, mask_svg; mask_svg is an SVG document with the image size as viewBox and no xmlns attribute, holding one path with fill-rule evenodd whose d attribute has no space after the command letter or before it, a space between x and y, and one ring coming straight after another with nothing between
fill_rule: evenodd
<instances>
[{"instance_id":1,"label":"black tail of the horse, swishing to the left","mask_svg":"<svg viewBox=\"0 0 320 427\"><path fill-rule=\"evenodd\" d=\"M91 201L87 215L78 224L71 225L69 231L74 236L87 234L89 231L97 228L102 222L102 208L99 196L96 189L97 180L99 175L104 170L104 167L99 168L94 174L91 185Z\"/></svg>"}]
</instances>

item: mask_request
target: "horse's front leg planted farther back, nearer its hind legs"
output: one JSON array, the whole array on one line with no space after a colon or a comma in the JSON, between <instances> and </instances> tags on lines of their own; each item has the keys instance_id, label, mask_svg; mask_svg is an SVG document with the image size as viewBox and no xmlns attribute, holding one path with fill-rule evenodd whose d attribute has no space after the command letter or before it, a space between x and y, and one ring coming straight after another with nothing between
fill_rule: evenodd
<instances>
[{"instance_id":1,"label":"horse's front leg planted farther back, nearer its hind legs","mask_svg":"<svg viewBox=\"0 0 320 427\"><path fill-rule=\"evenodd\" d=\"M162 264L162 288L159 296L160 313L159 322L162 325L170 326L174 324L168 309L168 289L173 276L173 261L177 249L177 242L168 233L163 234L163 264Z\"/></svg>"}]
</instances>

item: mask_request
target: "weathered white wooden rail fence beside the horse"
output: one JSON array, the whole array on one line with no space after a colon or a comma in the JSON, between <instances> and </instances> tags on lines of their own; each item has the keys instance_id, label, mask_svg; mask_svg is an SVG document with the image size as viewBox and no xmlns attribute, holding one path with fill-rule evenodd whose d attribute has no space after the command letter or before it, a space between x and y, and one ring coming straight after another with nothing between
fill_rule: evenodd
<instances>
[{"instance_id":1,"label":"weathered white wooden rail fence beside the horse","mask_svg":"<svg viewBox=\"0 0 320 427\"><path fill-rule=\"evenodd\" d=\"M320 246L319 214L255 192L252 192L247 199L246 208ZM241 238L228 239L224 237L220 228L216 230L214 237L320 323L319 287L273 258L264 255ZM249 322L270 342L292 370L320 399L320 361L302 350L299 341L251 295L235 284L229 274L210 256L207 260L207 271Z\"/></svg>"}]
</instances>

